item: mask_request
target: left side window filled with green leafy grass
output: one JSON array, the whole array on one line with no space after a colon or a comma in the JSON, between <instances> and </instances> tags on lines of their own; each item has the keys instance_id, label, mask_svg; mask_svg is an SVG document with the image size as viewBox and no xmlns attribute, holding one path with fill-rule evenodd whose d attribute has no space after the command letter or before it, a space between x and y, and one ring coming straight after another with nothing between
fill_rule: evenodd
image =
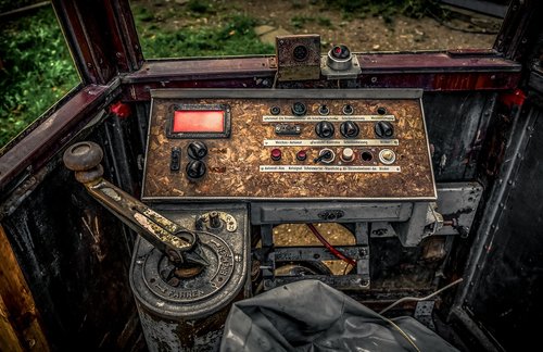
<instances>
[{"instance_id":1,"label":"left side window filled with green leafy grass","mask_svg":"<svg viewBox=\"0 0 543 352\"><path fill-rule=\"evenodd\" d=\"M0 1L0 150L79 81L51 4Z\"/></svg>"}]
</instances>

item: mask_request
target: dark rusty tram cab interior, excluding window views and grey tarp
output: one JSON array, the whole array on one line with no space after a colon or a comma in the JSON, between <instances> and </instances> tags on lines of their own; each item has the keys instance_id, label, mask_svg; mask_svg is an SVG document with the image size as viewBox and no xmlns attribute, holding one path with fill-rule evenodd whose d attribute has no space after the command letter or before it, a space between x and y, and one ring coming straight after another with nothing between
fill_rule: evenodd
<instances>
[{"instance_id":1,"label":"dark rusty tram cab interior, excluding window views and grey tarp","mask_svg":"<svg viewBox=\"0 0 543 352\"><path fill-rule=\"evenodd\" d=\"M541 1L490 50L166 60L127 0L52 4L83 83L0 152L0 350L213 351L304 280L460 351L539 344Z\"/></svg>"}]
</instances>

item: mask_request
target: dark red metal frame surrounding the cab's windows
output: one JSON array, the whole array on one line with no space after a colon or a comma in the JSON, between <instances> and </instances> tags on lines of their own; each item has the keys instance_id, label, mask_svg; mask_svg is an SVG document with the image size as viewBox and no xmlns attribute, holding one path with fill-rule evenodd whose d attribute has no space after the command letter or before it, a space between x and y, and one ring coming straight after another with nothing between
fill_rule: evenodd
<instances>
[{"instance_id":1,"label":"dark red metal frame surrounding the cab's windows","mask_svg":"<svg viewBox=\"0 0 543 352\"><path fill-rule=\"evenodd\" d=\"M128 0L53 0L81 85L0 154L0 191L43 166L114 99L148 101L152 88L272 88L273 55L229 59L143 59ZM536 0L513 0L493 49L358 53L359 88L425 91L510 90L538 34ZM530 30L532 28L532 30ZM326 85L307 81L306 88ZM47 122L47 124L45 124ZM26 171L26 172L25 172Z\"/></svg>"}]
</instances>

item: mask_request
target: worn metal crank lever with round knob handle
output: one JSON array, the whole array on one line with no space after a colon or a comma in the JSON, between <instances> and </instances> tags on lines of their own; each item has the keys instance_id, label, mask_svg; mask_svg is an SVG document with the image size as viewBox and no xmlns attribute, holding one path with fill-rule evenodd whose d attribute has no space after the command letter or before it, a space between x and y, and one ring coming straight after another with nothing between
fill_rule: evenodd
<instances>
[{"instance_id":1,"label":"worn metal crank lever with round knob handle","mask_svg":"<svg viewBox=\"0 0 543 352\"><path fill-rule=\"evenodd\" d=\"M102 178L102 158L100 146L83 141L71 146L64 152L63 161L96 200L163 252L174 265L209 265L195 232L162 216Z\"/></svg>"}]
</instances>

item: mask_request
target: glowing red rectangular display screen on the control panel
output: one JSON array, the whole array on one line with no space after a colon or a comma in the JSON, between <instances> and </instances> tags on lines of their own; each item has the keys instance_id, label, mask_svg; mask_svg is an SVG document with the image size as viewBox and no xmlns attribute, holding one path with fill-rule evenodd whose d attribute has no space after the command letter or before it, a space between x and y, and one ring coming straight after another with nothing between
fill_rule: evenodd
<instances>
[{"instance_id":1,"label":"glowing red rectangular display screen on the control panel","mask_svg":"<svg viewBox=\"0 0 543 352\"><path fill-rule=\"evenodd\" d=\"M223 110L176 110L174 112L174 134L225 133Z\"/></svg>"}]
</instances>

